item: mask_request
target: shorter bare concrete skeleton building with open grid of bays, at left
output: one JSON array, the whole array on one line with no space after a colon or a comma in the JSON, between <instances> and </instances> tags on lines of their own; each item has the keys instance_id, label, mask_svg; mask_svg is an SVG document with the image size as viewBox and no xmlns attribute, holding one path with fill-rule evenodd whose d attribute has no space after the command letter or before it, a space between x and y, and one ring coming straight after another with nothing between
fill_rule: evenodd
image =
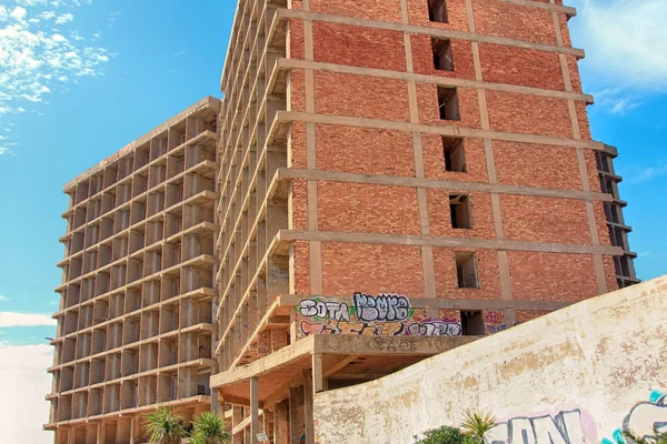
<instances>
[{"instance_id":1,"label":"shorter bare concrete skeleton building with open grid of bays, at left","mask_svg":"<svg viewBox=\"0 0 667 444\"><path fill-rule=\"evenodd\" d=\"M206 98L64 186L56 444L143 443L142 414L209 410L220 102Z\"/></svg>"}]
</instances>

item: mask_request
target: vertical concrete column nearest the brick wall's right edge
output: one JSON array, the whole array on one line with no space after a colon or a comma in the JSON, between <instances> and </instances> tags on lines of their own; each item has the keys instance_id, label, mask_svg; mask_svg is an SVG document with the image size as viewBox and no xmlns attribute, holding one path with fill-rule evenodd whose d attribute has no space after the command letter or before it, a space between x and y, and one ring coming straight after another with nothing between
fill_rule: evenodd
<instances>
[{"instance_id":1,"label":"vertical concrete column nearest the brick wall's right edge","mask_svg":"<svg viewBox=\"0 0 667 444\"><path fill-rule=\"evenodd\" d=\"M556 3L555 0L550 0L550 3ZM554 17L554 28L556 29L556 42L558 46L563 46L563 29L560 28L560 19L558 11L551 12ZM573 81L567 65L567 57L564 53L559 53L560 69L563 71L563 81L565 90L568 92L573 91ZM581 140L581 128L579 127L579 118L577 115L577 107L574 99L568 99L567 108L570 115L570 122L573 125L573 135L575 140ZM579 175L581 176L581 188L584 191L590 191L590 182L588 178L588 168L586 167L586 152L583 148L577 148L577 162L579 163ZM588 220L588 230L590 232L590 243L593 245L600 244L599 232L597 228L597 220L595 216L595 208L593 200L586 199L586 218ZM603 255L597 253L593 255L593 266L595 270L595 278L598 287L598 294L607 293L609 287L607 286L607 276L605 272L605 261Z\"/></svg>"}]
</instances>

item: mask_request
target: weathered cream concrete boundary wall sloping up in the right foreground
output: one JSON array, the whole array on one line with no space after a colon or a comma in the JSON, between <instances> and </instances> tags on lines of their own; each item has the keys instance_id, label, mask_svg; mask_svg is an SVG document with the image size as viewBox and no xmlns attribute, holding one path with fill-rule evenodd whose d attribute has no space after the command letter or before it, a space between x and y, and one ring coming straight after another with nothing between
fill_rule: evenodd
<instances>
[{"instance_id":1,"label":"weathered cream concrete boundary wall sloping up in the right foreground","mask_svg":"<svg viewBox=\"0 0 667 444\"><path fill-rule=\"evenodd\" d=\"M667 431L667 276L591 299L315 398L316 437L414 443L491 411L496 443L614 441Z\"/></svg>"}]
</instances>

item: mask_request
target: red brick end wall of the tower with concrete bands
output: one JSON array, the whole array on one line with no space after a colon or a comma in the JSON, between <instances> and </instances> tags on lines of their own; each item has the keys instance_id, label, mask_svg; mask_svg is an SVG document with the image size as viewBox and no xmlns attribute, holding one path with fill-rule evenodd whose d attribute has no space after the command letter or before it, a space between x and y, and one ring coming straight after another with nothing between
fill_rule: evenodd
<instances>
[{"instance_id":1,"label":"red brick end wall of the tower with concrete bands","mask_svg":"<svg viewBox=\"0 0 667 444\"><path fill-rule=\"evenodd\" d=\"M429 20L427 0L291 8L318 16L290 19L290 57L315 64L290 71L287 108L311 100L325 120L310 135L291 124L288 167L312 157L335 175L310 180L316 193L293 182L291 226L337 236L315 258L309 242L293 249L295 292L569 303L616 289L613 252L594 249L609 245L603 202L583 196L600 189L560 0L447 0L447 22ZM452 71L436 68L435 38ZM459 120L440 119L439 79L457 87ZM446 170L442 130L462 139L466 171ZM471 229L452 226L450 194L468 196ZM458 286L459 251L476 254L479 289Z\"/></svg>"}]
</instances>

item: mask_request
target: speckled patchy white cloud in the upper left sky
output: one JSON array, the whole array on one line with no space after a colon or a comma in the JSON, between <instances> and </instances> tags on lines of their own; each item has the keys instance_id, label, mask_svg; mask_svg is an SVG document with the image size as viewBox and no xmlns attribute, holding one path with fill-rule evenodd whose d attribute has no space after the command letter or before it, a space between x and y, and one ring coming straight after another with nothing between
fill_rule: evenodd
<instances>
[{"instance_id":1,"label":"speckled patchy white cloud in the upper left sky","mask_svg":"<svg viewBox=\"0 0 667 444\"><path fill-rule=\"evenodd\" d=\"M87 44L73 28L71 11L84 3L90 1L13 0L0 4L0 118L28 110L39 113L53 91L78 78L103 73L112 54ZM61 12L60 8L69 10ZM9 152L9 145L0 143L0 155Z\"/></svg>"}]
</instances>

